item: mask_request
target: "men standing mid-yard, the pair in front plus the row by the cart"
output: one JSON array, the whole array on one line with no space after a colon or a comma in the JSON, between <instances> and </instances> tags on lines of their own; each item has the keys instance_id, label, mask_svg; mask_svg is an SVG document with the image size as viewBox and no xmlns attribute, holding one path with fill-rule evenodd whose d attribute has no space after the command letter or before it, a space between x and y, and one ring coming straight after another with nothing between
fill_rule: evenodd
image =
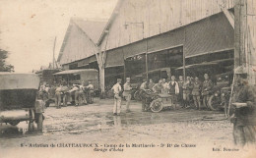
<instances>
[{"instance_id":1,"label":"men standing mid-yard, the pair in front plus the row by the cart","mask_svg":"<svg viewBox=\"0 0 256 158\"><path fill-rule=\"evenodd\" d=\"M208 74L204 75L205 80L201 82L198 77L192 79L187 77L185 80L183 77L179 77L176 80L174 76L171 76L169 81L166 79L160 79L158 83L155 83L153 79L144 79L140 85L141 90L150 89L156 93L170 94L172 96L172 104L177 104L178 102L184 108L190 107L191 100L193 99L195 108L201 110L201 97L203 98L203 105L208 106L208 100L212 93L213 82L209 79ZM126 82L123 84L123 89L121 86L122 79L117 79L117 83L111 88L114 93L114 107L113 115L119 115L121 111L121 100L122 96L126 99L126 112L130 112L130 101L132 86L130 83L131 79L127 78ZM142 102L142 111L147 111L145 102Z\"/></svg>"}]
</instances>

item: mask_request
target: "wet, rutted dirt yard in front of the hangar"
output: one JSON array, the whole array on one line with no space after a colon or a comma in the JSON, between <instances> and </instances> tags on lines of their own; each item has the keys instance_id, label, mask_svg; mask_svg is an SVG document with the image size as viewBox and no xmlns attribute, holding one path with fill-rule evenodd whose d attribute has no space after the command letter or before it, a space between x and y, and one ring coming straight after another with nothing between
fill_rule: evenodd
<instances>
[{"instance_id":1,"label":"wet, rutted dirt yard in front of the hangar","mask_svg":"<svg viewBox=\"0 0 256 158\"><path fill-rule=\"evenodd\" d=\"M233 147L232 125L223 112L172 108L160 113L141 112L141 103L132 101L131 112L112 115L112 99L94 104L56 109L52 104L44 112L43 132L28 132L28 124L1 125L0 148L28 147L34 144L67 143L154 143L155 145L209 146L207 149ZM204 117L218 119L205 121ZM92 148L94 150L95 148Z\"/></svg>"}]
</instances>

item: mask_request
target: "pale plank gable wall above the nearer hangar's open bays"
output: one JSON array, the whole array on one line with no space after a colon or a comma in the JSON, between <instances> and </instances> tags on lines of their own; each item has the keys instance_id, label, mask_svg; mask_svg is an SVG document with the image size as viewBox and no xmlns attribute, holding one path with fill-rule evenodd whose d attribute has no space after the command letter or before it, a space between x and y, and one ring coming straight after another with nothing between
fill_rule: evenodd
<instances>
[{"instance_id":1,"label":"pale plank gable wall above the nearer hangar's open bays","mask_svg":"<svg viewBox=\"0 0 256 158\"><path fill-rule=\"evenodd\" d=\"M101 48L113 49L229 9L234 0L124 0ZM138 24L132 24L138 23ZM144 27L142 25L144 24ZM125 26L127 25L127 26ZM106 42L107 40L107 42Z\"/></svg>"}]
</instances>

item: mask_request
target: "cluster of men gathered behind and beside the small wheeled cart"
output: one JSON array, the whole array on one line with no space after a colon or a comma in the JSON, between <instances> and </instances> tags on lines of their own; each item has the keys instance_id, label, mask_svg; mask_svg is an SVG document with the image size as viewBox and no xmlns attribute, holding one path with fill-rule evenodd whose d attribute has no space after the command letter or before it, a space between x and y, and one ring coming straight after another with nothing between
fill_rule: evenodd
<instances>
[{"instance_id":1,"label":"cluster of men gathered behind and beside the small wheeled cart","mask_svg":"<svg viewBox=\"0 0 256 158\"><path fill-rule=\"evenodd\" d=\"M179 104L183 108L189 108L193 100L195 108L202 109L201 98L203 105L207 108L208 101L213 90L213 82L209 79L208 74L204 75L205 80L202 82L198 77L195 79L187 77L185 80L182 76L178 80L171 76L170 81L160 79L158 83L154 83L152 79L148 82L146 79L142 83L140 89L151 89L156 93L170 94L172 96L172 104ZM145 109L143 108L143 111Z\"/></svg>"}]
</instances>

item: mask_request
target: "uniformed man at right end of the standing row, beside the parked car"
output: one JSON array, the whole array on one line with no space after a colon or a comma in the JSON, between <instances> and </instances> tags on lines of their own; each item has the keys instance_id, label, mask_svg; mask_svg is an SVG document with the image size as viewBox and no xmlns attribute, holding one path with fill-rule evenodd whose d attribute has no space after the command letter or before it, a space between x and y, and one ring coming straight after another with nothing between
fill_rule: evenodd
<instances>
[{"instance_id":1,"label":"uniformed man at right end of the standing row, beside the parked car","mask_svg":"<svg viewBox=\"0 0 256 158\"><path fill-rule=\"evenodd\" d=\"M214 87L214 84L213 84L212 80L209 79L208 74L205 74L204 78L205 78L205 80L204 80L203 85L202 85L203 104L204 104L205 107L209 108L208 107L208 100L211 96L211 92L212 92L212 89Z\"/></svg>"}]
</instances>

